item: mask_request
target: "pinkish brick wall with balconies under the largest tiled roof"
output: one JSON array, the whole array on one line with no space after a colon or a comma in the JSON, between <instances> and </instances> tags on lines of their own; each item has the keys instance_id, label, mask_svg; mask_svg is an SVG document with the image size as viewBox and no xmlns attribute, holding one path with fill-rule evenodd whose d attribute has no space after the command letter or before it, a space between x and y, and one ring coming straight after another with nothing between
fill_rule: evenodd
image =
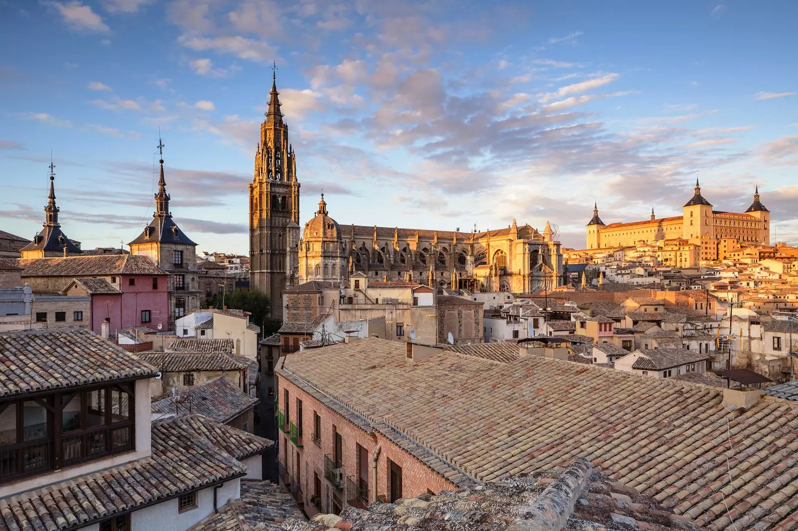
<instances>
[{"instance_id":1,"label":"pinkish brick wall with balconies under the largest tiled roof","mask_svg":"<svg viewBox=\"0 0 798 531\"><path fill-rule=\"evenodd\" d=\"M399 498L413 498L432 490L435 494L441 490L456 490L452 482L429 469L413 455L402 450L399 446L385 439L379 434L369 434L360 427L355 426L342 415L314 399L305 391L300 390L290 381L278 376L277 395L279 397L279 410L286 411L285 392L288 391L289 412L288 419L298 424L298 402L302 401L302 439L299 445L290 441L289 435L278 431L278 458L285 466L286 475L300 482L304 509L307 513L316 513L310 498L314 492L314 473L318 474L322 490L318 493L322 498L322 513L334 512L334 505L343 507L350 496L346 492L346 478L357 479L361 475L359 470L358 444L368 453L366 477L369 482L367 501L373 495L389 495L389 459L401 466L402 492ZM321 437L314 441L314 413L321 417ZM334 456L334 429L342 436L342 469L344 488L335 490L332 483L324 477L324 456ZM381 452L377 461L377 490L375 493L371 471L371 457L377 444L381 445ZM282 478L281 478L282 479Z\"/></svg>"}]
</instances>

